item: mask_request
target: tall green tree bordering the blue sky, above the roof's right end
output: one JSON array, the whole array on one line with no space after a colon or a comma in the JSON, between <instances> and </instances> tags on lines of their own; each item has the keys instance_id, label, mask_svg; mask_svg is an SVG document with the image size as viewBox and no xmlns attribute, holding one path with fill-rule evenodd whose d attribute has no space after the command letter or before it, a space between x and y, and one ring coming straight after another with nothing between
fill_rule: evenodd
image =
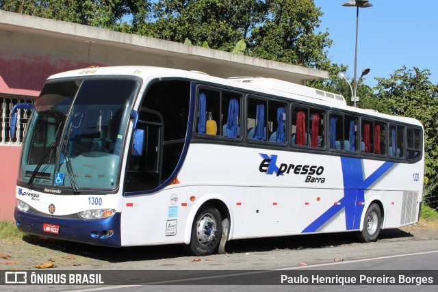
<instances>
[{"instance_id":1,"label":"tall green tree bordering the blue sky, above the roof's right end","mask_svg":"<svg viewBox=\"0 0 438 292\"><path fill-rule=\"evenodd\" d=\"M329 32L318 32L320 8L311 0L267 0L263 23L254 27L248 42L249 55L287 64L322 68Z\"/></svg>"}]
</instances>

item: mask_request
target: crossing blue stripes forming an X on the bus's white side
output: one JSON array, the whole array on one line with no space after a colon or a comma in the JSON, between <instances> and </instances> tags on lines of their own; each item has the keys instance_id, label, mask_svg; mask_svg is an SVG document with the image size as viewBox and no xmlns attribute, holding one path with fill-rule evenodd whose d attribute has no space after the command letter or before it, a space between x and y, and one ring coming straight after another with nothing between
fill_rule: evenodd
<instances>
[{"instance_id":1,"label":"crossing blue stripes forming an X on the bus's white side","mask_svg":"<svg viewBox=\"0 0 438 292\"><path fill-rule=\"evenodd\" d=\"M363 179L362 159L341 157L342 176L344 178L344 197L307 226L302 233L314 233L345 209L346 230L360 228L361 215L365 202L365 190L374 185L394 166L394 162L385 162L368 178Z\"/></svg>"}]
</instances>

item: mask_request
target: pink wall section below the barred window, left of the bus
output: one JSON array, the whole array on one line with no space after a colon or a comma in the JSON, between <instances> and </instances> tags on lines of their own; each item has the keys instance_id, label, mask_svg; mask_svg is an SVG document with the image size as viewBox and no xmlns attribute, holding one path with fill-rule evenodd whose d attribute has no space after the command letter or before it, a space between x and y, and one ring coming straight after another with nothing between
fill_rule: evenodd
<instances>
[{"instance_id":1,"label":"pink wall section below the barred window, left of the bus","mask_svg":"<svg viewBox=\"0 0 438 292\"><path fill-rule=\"evenodd\" d=\"M16 177L20 146L0 146L0 221L14 220Z\"/></svg>"}]
</instances>

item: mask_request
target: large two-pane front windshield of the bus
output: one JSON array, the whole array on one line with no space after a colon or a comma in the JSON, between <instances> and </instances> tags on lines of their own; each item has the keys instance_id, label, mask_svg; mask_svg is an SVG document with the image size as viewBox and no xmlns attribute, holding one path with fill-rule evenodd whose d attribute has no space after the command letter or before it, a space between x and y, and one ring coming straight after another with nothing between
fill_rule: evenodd
<instances>
[{"instance_id":1,"label":"large two-pane front windshield of the bus","mask_svg":"<svg viewBox=\"0 0 438 292\"><path fill-rule=\"evenodd\" d=\"M23 144L19 179L75 193L115 189L129 105L139 86L120 78L44 85Z\"/></svg>"}]
</instances>

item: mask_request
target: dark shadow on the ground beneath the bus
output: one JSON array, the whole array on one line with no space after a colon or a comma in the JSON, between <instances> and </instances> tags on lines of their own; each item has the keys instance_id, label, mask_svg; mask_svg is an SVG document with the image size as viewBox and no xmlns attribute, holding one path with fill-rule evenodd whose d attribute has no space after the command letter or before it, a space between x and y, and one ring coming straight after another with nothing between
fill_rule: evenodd
<instances>
[{"instance_id":1,"label":"dark shadow on the ground beneath the bus","mask_svg":"<svg viewBox=\"0 0 438 292\"><path fill-rule=\"evenodd\" d=\"M400 229L382 230L379 240L413 237ZM94 258L110 263L128 261L147 261L164 258L179 258L188 256L182 245L160 245L126 248L107 248L85 243L73 243L56 239L46 239L31 235L24 235L23 241L38 245L49 250L57 250L66 254L75 254ZM241 239L229 241L225 250L229 254L245 252L268 252L270 250L302 250L308 248L331 248L339 245L358 243L357 233L331 233L319 235L295 235L287 237L270 237L259 239Z\"/></svg>"}]
</instances>

